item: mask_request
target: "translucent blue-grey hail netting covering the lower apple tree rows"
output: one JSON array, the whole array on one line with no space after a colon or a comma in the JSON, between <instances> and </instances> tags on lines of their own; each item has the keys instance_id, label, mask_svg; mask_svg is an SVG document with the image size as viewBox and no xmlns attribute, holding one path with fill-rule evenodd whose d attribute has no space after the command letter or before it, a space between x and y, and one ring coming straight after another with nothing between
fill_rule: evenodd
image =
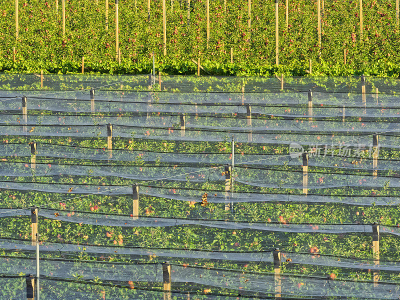
<instances>
[{"instance_id":1,"label":"translucent blue-grey hail netting covering the lower apple tree rows","mask_svg":"<svg viewBox=\"0 0 400 300\"><path fill-rule=\"evenodd\" d=\"M0 298L398 299L400 80L152 79L0 74Z\"/></svg>"}]
</instances>

